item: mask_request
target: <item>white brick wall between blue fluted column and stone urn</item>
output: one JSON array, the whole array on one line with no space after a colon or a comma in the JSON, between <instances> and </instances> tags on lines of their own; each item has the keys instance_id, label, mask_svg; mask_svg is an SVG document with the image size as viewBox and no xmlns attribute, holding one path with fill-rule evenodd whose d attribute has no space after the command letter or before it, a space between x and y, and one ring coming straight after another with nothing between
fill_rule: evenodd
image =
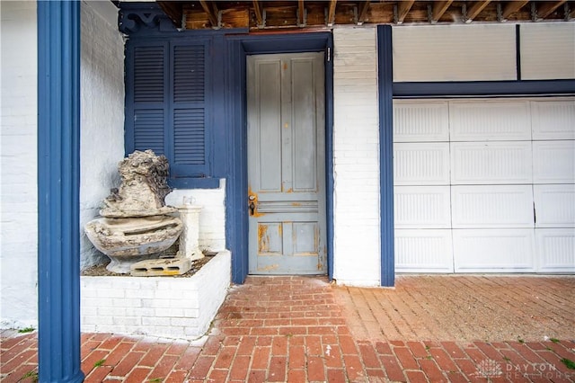
<instances>
[{"instance_id":1,"label":"white brick wall between blue fluted column and stone urn","mask_svg":"<svg viewBox=\"0 0 575 383\"><path fill-rule=\"evenodd\" d=\"M98 215L102 200L119 186L124 157L124 41L118 10L111 2L83 1L81 7L80 266L107 260L93 248L84 225Z\"/></svg>"}]
</instances>

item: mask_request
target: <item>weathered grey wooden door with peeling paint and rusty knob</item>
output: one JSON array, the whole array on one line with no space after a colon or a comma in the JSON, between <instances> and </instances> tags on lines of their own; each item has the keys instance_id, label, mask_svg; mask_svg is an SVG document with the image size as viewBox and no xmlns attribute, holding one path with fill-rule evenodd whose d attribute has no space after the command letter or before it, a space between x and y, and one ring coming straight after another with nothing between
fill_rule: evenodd
<instances>
[{"instance_id":1,"label":"weathered grey wooden door with peeling paint and rusty knob","mask_svg":"<svg viewBox=\"0 0 575 383\"><path fill-rule=\"evenodd\" d=\"M323 53L247 58L252 274L323 274Z\"/></svg>"}]
</instances>

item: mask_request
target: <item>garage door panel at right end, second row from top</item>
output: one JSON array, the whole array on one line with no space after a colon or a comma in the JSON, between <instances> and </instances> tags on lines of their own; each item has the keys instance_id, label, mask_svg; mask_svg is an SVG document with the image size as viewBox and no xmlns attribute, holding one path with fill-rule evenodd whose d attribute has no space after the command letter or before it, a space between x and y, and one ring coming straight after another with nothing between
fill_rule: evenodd
<instances>
[{"instance_id":1,"label":"garage door panel at right end, second row from top","mask_svg":"<svg viewBox=\"0 0 575 383\"><path fill-rule=\"evenodd\" d=\"M575 183L575 140L533 142L534 183Z\"/></svg>"}]
</instances>

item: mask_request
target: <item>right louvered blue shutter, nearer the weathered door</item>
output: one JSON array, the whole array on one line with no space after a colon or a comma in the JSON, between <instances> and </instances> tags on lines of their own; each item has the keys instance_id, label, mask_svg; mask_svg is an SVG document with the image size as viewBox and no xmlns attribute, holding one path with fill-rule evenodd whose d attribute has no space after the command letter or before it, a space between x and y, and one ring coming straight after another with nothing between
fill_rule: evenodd
<instances>
[{"instance_id":1,"label":"right louvered blue shutter, nearer the weathered door","mask_svg":"<svg viewBox=\"0 0 575 383\"><path fill-rule=\"evenodd\" d=\"M173 166L175 177L208 176L207 45L173 45Z\"/></svg>"}]
</instances>

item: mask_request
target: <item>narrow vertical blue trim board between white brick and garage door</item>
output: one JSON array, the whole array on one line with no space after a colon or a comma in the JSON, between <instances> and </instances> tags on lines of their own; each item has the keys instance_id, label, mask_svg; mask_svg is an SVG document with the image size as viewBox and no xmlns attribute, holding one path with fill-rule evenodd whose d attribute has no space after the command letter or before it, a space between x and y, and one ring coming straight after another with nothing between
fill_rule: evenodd
<instances>
[{"instance_id":1,"label":"narrow vertical blue trim board between white brick and garage door","mask_svg":"<svg viewBox=\"0 0 575 383\"><path fill-rule=\"evenodd\" d=\"M391 25L377 26L379 71L379 192L381 285L395 282L394 255L394 94Z\"/></svg>"}]
</instances>

